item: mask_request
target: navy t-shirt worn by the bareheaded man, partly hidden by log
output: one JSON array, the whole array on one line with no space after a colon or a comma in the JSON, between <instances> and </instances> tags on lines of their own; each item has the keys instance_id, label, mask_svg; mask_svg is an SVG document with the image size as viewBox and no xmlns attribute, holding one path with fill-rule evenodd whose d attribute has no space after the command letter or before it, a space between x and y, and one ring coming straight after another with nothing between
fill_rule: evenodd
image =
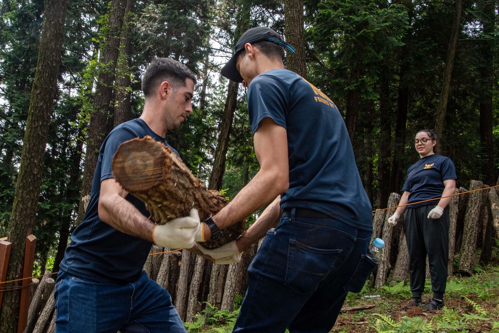
<instances>
[{"instance_id":1,"label":"navy t-shirt worn by the bareheaded man, partly hidden by log","mask_svg":"<svg viewBox=\"0 0 499 333\"><path fill-rule=\"evenodd\" d=\"M142 119L117 126L104 140L95 168L90 202L82 223L71 235L71 244L60 264L67 273L97 282L130 283L142 272L152 243L114 229L99 219L97 210L100 183L113 178L111 163L118 146L146 135L167 145L165 138L154 133ZM176 150L172 150L178 155ZM142 201L131 194L126 200L144 216L150 216Z\"/></svg>"}]
</instances>

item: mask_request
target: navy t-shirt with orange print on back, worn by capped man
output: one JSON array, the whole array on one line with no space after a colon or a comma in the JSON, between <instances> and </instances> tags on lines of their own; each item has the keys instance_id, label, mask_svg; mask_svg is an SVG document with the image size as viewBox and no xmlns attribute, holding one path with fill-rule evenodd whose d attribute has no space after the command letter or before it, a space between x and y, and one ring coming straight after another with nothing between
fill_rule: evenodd
<instances>
[{"instance_id":1,"label":"navy t-shirt with orange print on back, worn by capped man","mask_svg":"<svg viewBox=\"0 0 499 333\"><path fill-rule=\"evenodd\" d=\"M248 112L253 133L267 117L286 129L289 189L281 209L310 208L372 230L372 207L350 137L329 97L290 70L272 69L251 81Z\"/></svg>"}]
</instances>

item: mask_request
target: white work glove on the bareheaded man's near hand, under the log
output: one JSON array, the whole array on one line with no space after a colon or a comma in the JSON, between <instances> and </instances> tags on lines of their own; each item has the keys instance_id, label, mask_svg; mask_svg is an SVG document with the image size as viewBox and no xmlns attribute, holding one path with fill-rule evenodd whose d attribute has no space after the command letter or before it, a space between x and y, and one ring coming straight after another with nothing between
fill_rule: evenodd
<instances>
[{"instance_id":1,"label":"white work glove on the bareheaded man's near hand, under the log","mask_svg":"<svg viewBox=\"0 0 499 333\"><path fill-rule=\"evenodd\" d=\"M190 249L194 246L194 239L200 228L198 211L193 208L189 216L155 226L153 243L163 248Z\"/></svg>"}]
</instances>

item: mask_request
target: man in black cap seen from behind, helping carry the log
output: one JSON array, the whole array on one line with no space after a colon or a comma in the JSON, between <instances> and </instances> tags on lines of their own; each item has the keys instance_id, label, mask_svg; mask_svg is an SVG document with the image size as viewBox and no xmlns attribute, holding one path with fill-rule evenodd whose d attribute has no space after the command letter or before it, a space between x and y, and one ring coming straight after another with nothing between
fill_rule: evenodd
<instances>
[{"instance_id":1,"label":"man in black cap seen from behind, helping carry the log","mask_svg":"<svg viewBox=\"0 0 499 333\"><path fill-rule=\"evenodd\" d=\"M343 118L329 97L284 68L284 49L294 51L274 30L252 28L222 69L248 87L260 170L205 221L205 237L277 197L237 241L200 247L215 263L235 262L265 236L234 332L329 332L347 292L359 292L376 265L365 256L372 207Z\"/></svg>"}]
</instances>

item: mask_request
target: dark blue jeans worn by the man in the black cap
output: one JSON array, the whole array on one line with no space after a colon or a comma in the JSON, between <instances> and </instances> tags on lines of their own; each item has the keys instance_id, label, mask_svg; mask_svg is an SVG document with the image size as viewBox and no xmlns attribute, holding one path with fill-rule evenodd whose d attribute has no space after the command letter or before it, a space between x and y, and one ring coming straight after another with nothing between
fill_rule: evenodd
<instances>
[{"instance_id":1,"label":"dark blue jeans worn by the man in the black cap","mask_svg":"<svg viewBox=\"0 0 499 333\"><path fill-rule=\"evenodd\" d=\"M233 332L329 332L347 292L360 292L376 267L366 256L371 235L335 219L295 218L293 209L248 269Z\"/></svg>"}]
</instances>

